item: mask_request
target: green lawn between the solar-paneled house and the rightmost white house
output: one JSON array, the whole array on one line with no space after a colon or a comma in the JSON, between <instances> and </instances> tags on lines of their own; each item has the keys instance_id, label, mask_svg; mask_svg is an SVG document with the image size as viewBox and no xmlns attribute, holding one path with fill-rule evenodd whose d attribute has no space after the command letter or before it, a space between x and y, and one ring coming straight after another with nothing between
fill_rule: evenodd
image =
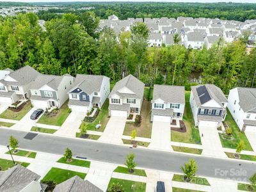
<instances>
[{"instance_id":1,"label":"green lawn between the solar-paneled house and the rightmost white house","mask_svg":"<svg viewBox=\"0 0 256 192\"><path fill-rule=\"evenodd\" d=\"M227 110L228 111L228 110ZM231 127L232 129L232 136L233 136L233 140L225 140L220 136L220 141L222 144L222 147L225 148L236 148L237 144L240 141L244 141L244 150L250 150L253 151L252 146L250 145L250 142L248 141L248 139L246 138L246 135L244 134L244 132L241 132L239 127L237 127L236 122L233 120L232 115L230 114L230 112L228 111L225 122L227 123L228 127Z\"/></svg>"}]
</instances>

